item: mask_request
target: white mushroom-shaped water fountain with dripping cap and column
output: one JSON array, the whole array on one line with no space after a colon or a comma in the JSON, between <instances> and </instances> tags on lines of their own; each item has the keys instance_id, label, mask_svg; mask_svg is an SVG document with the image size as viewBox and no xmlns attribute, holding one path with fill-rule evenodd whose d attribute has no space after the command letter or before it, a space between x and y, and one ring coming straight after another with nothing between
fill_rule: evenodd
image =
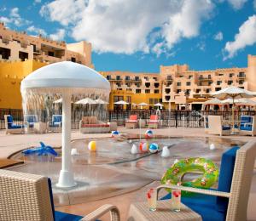
<instances>
[{"instance_id":1,"label":"white mushroom-shaped water fountain with dripping cap and column","mask_svg":"<svg viewBox=\"0 0 256 221\"><path fill-rule=\"evenodd\" d=\"M110 85L98 72L71 61L46 65L33 71L20 85L23 106L36 95L59 94L62 97L62 165L58 187L76 185L71 164L71 97L84 96L108 100Z\"/></svg>"}]
</instances>

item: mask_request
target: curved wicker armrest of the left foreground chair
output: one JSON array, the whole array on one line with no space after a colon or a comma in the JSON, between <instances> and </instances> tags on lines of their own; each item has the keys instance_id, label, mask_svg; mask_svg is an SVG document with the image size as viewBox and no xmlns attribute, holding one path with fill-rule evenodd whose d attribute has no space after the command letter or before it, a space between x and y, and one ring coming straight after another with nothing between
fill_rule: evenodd
<instances>
[{"instance_id":1,"label":"curved wicker armrest of the left foreground chair","mask_svg":"<svg viewBox=\"0 0 256 221\"><path fill-rule=\"evenodd\" d=\"M120 212L118 207L113 206L111 204L105 204L102 207L97 208L94 212L90 212L86 217L82 218L82 221L95 221L97 218L102 217L102 215L110 212L110 220L111 221L119 221L120 220Z\"/></svg>"}]
</instances>

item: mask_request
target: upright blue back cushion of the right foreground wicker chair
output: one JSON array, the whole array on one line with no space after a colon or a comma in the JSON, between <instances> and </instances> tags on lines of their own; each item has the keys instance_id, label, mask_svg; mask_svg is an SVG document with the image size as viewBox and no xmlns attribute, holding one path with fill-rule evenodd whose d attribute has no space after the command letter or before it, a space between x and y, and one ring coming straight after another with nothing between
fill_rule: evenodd
<instances>
[{"instance_id":1,"label":"upright blue back cushion of the right foreground wicker chair","mask_svg":"<svg viewBox=\"0 0 256 221\"><path fill-rule=\"evenodd\" d=\"M221 165L218 177L218 191L230 192L237 150L239 150L239 147L235 146L230 150L224 152L221 158ZM228 198L220 196L217 197L216 205L218 211L227 211L228 204Z\"/></svg>"}]
</instances>

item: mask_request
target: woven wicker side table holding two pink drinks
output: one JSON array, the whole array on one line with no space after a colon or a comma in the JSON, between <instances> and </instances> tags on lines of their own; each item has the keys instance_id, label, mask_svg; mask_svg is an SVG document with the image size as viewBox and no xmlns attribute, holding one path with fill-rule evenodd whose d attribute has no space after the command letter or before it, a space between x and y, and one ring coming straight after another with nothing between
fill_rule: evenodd
<instances>
[{"instance_id":1,"label":"woven wicker side table holding two pink drinks","mask_svg":"<svg viewBox=\"0 0 256 221\"><path fill-rule=\"evenodd\" d=\"M157 209L152 212L148 210L148 202L136 202L130 206L128 221L201 221L201 215L185 205L181 205L180 212L172 212L171 200L157 201Z\"/></svg>"}]
</instances>

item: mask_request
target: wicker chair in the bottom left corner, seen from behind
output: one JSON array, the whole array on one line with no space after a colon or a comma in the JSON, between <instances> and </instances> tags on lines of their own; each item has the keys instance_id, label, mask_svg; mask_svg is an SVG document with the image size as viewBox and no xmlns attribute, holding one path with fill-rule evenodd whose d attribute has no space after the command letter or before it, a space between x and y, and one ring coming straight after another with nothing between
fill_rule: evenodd
<instances>
[{"instance_id":1,"label":"wicker chair in the bottom left corner, seen from behind","mask_svg":"<svg viewBox=\"0 0 256 221\"><path fill-rule=\"evenodd\" d=\"M86 217L55 211L51 182L40 175L0 170L0 220L96 220L110 212L119 221L119 209L104 205Z\"/></svg>"}]
</instances>

